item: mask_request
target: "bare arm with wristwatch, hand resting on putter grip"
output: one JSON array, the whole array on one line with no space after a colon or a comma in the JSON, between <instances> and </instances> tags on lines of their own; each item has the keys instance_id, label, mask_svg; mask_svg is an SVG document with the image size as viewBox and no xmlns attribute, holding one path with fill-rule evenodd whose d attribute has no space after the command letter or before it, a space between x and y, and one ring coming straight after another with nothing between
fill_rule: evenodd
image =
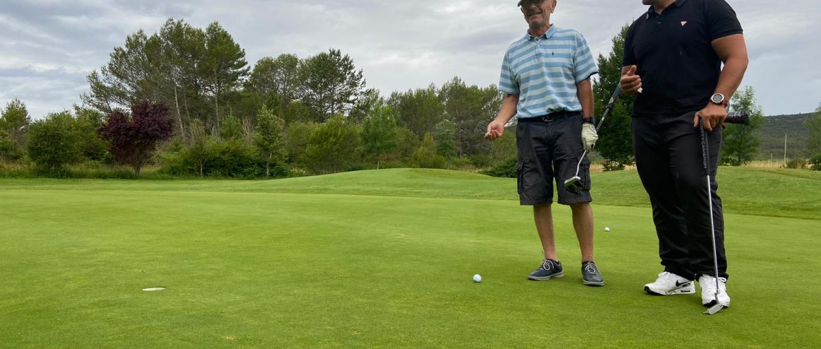
<instances>
[{"instance_id":1,"label":"bare arm with wristwatch, hand resting on putter grip","mask_svg":"<svg viewBox=\"0 0 821 349\"><path fill-rule=\"evenodd\" d=\"M743 34L732 34L713 40L712 45L718 57L724 62L715 92L723 94L724 98L729 100L741 85L747 65L750 63L750 58L747 56L747 44ZM713 131L714 127L724 123L724 119L727 118L727 109L715 103L707 103L707 107L695 113L693 127L699 126L699 118L704 120L705 130Z\"/></svg>"}]
</instances>

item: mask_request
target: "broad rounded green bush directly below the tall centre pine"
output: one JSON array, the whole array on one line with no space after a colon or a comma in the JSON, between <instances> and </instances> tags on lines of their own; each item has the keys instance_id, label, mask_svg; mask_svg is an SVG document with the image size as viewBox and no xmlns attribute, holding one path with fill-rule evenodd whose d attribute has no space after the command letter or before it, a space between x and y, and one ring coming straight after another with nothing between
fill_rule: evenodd
<instances>
[{"instance_id":1,"label":"broad rounded green bush directly below the tall centre pine","mask_svg":"<svg viewBox=\"0 0 821 349\"><path fill-rule=\"evenodd\" d=\"M311 132L305 163L317 173L340 172L360 157L360 131L337 115Z\"/></svg>"}]
</instances>

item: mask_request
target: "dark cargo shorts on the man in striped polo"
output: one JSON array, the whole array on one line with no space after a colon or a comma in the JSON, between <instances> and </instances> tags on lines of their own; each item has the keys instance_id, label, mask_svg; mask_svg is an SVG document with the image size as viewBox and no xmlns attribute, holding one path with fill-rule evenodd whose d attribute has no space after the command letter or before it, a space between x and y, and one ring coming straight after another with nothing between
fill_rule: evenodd
<instances>
[{"instance_id":1,"label":"dark cargo shorts on the man in striped polo","mask_svg":"<svg viewBox=\"0 0 821 349\"><path fill-rule=\"evenodd\" d=\"M553 204L553 180L559 204L590 202L590 160L581 162L579 177L584 190L567 191L564 181L576 176L576 165L585 148L581 144L581 113L553 113L546 117L519 119L519 202L526 206Z\"/></svg>"}]
</instances>

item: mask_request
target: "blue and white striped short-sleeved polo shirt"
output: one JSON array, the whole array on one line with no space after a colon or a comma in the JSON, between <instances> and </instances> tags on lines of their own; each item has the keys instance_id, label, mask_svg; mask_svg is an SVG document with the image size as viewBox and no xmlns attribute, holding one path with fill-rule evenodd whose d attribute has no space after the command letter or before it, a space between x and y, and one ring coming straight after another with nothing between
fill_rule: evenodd
<instances>
[{"instance_id":1,"label":"blue and white striped short-sleeved polo shirt","mask_svg":"<svg viewBox=\"0 0 821 349\"><path fill-rule=\"evenodd\" d=\"M519 95L520 118L580 112L576 83L598 72L585 37L551 25L541 37L526 34L507 48L499 90Z\"/></svg>"}]
</instances>

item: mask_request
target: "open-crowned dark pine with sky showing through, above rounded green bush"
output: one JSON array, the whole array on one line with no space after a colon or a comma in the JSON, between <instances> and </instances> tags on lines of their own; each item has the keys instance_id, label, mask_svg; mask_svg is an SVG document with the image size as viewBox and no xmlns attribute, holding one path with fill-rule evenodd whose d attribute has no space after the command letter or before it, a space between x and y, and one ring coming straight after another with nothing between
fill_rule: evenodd
<instances>
[{"instance_id":1,"label":"open-crowned dark pine with sky showing through, above rounded green bush","mask_svg":"<svg viewBox=\"0 0 821 349\"><path fill-rule=\"evenodd\" d=\"M356 70L348 55L336 49L319 53L305 62L305 98L317 118L325 122L338 114L346 115L365 89L365 77Z\"/></svg>"}]
</instances>

